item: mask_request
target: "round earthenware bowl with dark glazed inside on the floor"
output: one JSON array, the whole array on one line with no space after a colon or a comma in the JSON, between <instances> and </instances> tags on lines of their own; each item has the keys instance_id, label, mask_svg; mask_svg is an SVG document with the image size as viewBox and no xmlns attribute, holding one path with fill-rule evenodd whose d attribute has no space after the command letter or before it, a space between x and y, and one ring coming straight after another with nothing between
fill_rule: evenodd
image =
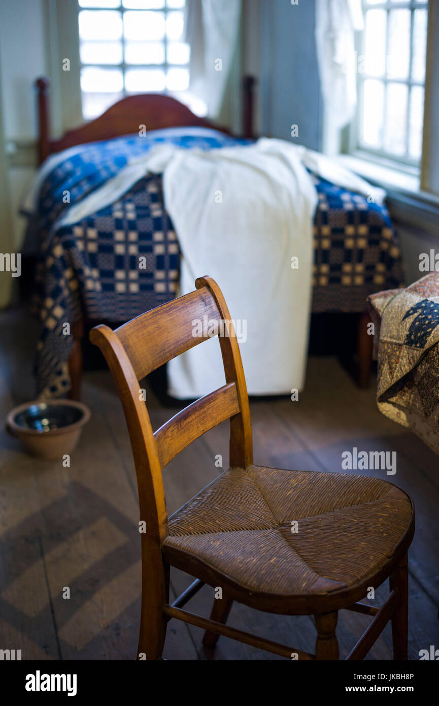
<instances>
[{"instance_id":1,"label":"round earthenware bowl with dark glazed inside on the floor","mask_svg":"<svg viewBox=\"0 0 439 706\"><path fill-rule=\"evenodd\" d=\"M90 419L90 409L73 400L35 400L9 412L6 429L23 442L29 453L45 459L62 459L78 443Z\"/></svg>"}]
</instances>

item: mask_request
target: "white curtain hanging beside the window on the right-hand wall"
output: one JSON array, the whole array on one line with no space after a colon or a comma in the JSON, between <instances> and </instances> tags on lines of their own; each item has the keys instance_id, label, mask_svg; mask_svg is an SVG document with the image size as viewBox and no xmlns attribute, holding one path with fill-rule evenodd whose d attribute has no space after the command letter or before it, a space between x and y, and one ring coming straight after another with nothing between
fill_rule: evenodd
<instances>
[{"instance_id":1,"label":"white curtain hanging beside the window on the right-hand wall","mask_svg":"<svg viewBox=\"0 0 439 706\"><path fill-rule=\"evenodd\" d=\"M361 0L316 0L315 42L325 117L340 129L354 117L356 71L354 32L363 29Z\"/></svg>"}]
</instances>

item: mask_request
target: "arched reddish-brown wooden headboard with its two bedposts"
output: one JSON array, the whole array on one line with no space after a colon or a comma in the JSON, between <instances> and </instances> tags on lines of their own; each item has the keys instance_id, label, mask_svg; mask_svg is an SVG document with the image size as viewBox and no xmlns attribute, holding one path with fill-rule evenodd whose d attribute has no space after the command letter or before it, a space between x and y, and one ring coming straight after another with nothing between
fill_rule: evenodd
<instances>
[{"instance_id":1,"label":"arched reddish-brown wooden headboard with its two bedposts","mask_svg":"<svg viewBox=\"0 0 439 706\"><path fill-rule=\"evenodd\" d=\"M146 130L169 127L200 126L220 130L212 121L200 118L183 103L169 95L143 93L131 95L114 103L102 115L82 126L69 130L58 140L50 137L49 124L49 78L35 81L38 103L38 162L41 164L53 152L66 150L96 140L109 140L121 135L136 133L140 125ZM245 137L253 137L253 89L255 79L246 76L243 80L243 131Z\"/></svg>"}]
</instances>

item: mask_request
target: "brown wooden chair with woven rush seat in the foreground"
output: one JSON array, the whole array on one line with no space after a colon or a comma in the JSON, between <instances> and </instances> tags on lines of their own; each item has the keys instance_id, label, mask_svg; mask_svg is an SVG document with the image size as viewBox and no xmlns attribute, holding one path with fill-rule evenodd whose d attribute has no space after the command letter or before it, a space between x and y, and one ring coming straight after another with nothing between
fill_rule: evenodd
<instances>
[{"instance_id":1,"label":"brown wooden chair with woven rush seat in the foreground","mask_svg":"<svg viewBox=\"0 0 439 706\"><path fill-rule=\"evenodd\" d=\"M236 312L235 312L236 313ZM411 499L386 481L342 473L299 472L253 465L250 410L234 335L220 337L226 384L152 431L139 381L197 345L194 319L230 321L210 277L196 291L112 331L90 333L116 381L138 479L142 545L142 609L138 659L160 659L167 621L178 618L289 659L338 659L337 611L373 616L347 659L363 659L392 620L394 659L407 659L407 550L414 534ZM230 468L167 516L162 469L191 441L230 419ZM298 523L298 532L294 531ZM169 604L169 566L196 581ZM358 602L390 578L380 608ZM210 620L182 610L205 583L222 587ZM232 601L284 615L313 615L315 655L225 625Z\"/></svg>"}]
</instances>

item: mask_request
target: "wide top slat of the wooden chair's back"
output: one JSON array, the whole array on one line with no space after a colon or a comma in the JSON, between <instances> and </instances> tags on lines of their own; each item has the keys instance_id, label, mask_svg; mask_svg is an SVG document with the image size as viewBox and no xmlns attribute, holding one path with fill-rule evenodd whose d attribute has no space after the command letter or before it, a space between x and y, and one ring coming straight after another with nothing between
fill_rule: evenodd
<instances>
[{"instance_id":1,"label":"wide top slat of the wooden chair's back","mask_svg":"<svg viewBox=\"0 0 439 706\"><path fill-rule=\"evenodd\" d=\"M138 380L142 380L209 337L208 326L203 326L202 335L198 335L193 321L219 321L220 318L215 299L203 288L147 311L116 328L114 333L126 349Z\"/></svg>"}]
</instances>

